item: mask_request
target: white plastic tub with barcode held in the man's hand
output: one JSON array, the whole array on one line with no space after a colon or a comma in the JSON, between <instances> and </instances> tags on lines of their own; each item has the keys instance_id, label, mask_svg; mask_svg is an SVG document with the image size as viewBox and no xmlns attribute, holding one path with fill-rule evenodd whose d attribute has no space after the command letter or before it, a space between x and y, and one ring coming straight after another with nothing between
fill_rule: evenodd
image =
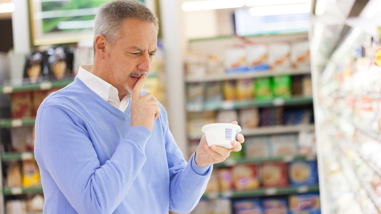
<instances>
[{"instance_id":1,"label":"white plastic tub with barcode held in the man's hand","mask_svg":"<svg viewBox=\"0 0 381 214\"><path fill-rule=\"evenodd\" d=\"M241 127L231 123L212 123L202 127L208 146L216 145L232 149L232 141L241 132Z\"/></svg>"}]
</instances>

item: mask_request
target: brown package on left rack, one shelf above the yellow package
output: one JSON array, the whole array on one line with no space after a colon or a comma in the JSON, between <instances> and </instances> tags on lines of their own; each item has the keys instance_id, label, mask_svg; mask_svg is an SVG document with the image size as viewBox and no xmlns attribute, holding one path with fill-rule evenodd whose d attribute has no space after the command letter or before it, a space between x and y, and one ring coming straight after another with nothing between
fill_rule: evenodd
<instances>
[{"instance_id":1,"label":"brown package on left rack, one shelf above the yellow package","mask_svg":"<svg viewBox=\"0 0 381 214\"><path fill-rule=\"evenodd\" d=\"M16 153L33 151L34 127L11 128L12 151Z\"/></svg>"}]
</instances>

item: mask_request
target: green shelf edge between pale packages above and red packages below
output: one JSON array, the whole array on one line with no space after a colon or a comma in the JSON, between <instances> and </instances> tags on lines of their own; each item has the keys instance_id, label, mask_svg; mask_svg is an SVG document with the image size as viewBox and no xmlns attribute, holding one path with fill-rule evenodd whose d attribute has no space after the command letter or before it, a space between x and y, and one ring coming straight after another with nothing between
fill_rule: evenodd
<instances>
[{"instance_id":1,"label":"green shelf edge between pale packages above and red packages below","mask_svg":"<svg viewBox=\"0 0 381 214\"><path fill-rule=\"evenodd\" d=\"M250 164L250 163L262 163L262 162L292 162L292 161L307 161L316 160L316 155L284 155L279 157L258 157L258 158L241 158L232 159L228 158L224 162L213 164L214 167L232 167L236 164Z\"/></svg>"}]
</instances>

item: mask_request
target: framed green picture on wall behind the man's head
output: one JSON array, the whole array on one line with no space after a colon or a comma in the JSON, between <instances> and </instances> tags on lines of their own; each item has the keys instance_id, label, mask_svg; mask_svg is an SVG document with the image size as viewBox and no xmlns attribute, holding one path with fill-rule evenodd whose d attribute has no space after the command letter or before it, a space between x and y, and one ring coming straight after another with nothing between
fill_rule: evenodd
<instances>
[{"instance_id":1,"label":"framed green picture on wall behind the man's head","mask_svg":"<svg viewBox=\"0 0 381 214\"><path fill-rule=\"evenodd\" d=\"M91 40L98 7L108 1L110 0L29 0L33 44Z\"/></svg>"}]
</instances>

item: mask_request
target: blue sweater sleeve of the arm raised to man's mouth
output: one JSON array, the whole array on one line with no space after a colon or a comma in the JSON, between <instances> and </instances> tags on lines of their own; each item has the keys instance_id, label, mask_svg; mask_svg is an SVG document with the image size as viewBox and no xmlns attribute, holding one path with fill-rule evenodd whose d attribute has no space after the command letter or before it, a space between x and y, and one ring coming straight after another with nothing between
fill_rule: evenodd
<instances>
[{"instance_id":1,"label":"blue sweater sleeve of the arm raised to man's mouth","mask_svg":"<svg viewBox=\"0 0 381 214\"><path fill-rule=\"evenodd\" d=\"M35 157L79 214L111 214L146 161L150 135L145 127L131 127L101 165L78 116L49 106L40 109L36 118Z\"/></svg>"}]
</instances>

